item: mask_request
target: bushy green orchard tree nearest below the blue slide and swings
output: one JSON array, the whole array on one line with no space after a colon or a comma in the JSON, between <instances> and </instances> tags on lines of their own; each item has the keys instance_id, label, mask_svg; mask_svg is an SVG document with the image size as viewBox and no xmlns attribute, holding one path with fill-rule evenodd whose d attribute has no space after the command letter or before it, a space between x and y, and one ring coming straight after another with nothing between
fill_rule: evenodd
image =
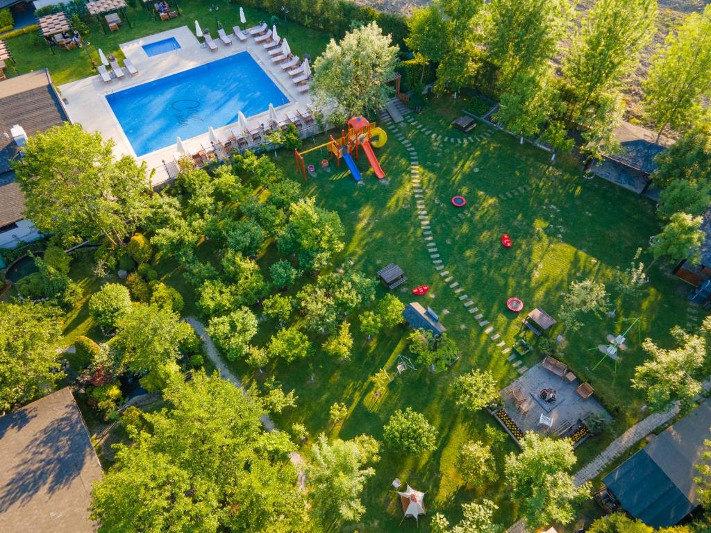
<instances>
[{"instance_id":1,"label":"bushy green orchard tree nearest below the blue slide and swings","mask_svg":"<svg viewBox=\"0 0 711 533\"><path fill-rule=\"evenodd\" d=\"M279 237L279 251L299 254L301 268L319 271L343 249L343 224L335 211L317 208L314 198L293 203L289 224Z\"/></svg>"}]
</instances>

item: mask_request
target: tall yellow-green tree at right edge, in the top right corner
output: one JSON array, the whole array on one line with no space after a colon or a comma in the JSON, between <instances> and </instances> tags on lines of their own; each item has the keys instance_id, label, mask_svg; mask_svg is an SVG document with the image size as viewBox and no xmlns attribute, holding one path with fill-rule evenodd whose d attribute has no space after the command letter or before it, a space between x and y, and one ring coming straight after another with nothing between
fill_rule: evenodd
<instances>
[{"instance_id":1,"label":"tall yellow-green tree at right edge, in the top right corner","mask_svg":"<svg viewBox=\"0 0 711 533\"><path fill-rule=\"evenodd\" d=\"M711 96L711 6L690 14L653 56L644 89L643 106L657 126L681 129L703 115L702 100Z\"/></svg>"}]
</instances>

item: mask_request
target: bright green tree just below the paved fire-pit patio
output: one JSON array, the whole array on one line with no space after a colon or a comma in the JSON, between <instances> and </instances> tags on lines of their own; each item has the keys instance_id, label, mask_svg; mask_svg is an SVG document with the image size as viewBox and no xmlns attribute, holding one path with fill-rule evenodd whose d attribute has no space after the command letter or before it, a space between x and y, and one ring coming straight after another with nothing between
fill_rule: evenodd
<instances>
[{"instance_id":1,"label":"bright green tree just below the paved fire-pit patio","mask_svg":"<svg viewBox=\"0 0 711 533\"><path fill-rule=\"evenodd\" d=\"M529 431L520 441L521 453L506 457L504 472L513 500L520 503L526 524L538 529L551 522L569 523L572 502L587 497L590 483L575 486L572 443Z\"/></svg>"}]
</instances>

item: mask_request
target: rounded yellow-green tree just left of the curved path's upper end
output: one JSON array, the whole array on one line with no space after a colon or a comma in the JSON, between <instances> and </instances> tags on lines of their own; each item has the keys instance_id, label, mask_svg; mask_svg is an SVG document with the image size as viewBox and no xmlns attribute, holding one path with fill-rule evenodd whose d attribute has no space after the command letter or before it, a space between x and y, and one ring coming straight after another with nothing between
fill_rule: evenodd
<instances>
[{"instance_id":1,"label":"rounded yellow-green tree just left of the curved path's upper end","mask_svg":"<svg viewBox=\"0 0 711 533\"><path fill-rule=\"evenodd\" d=\"M112 344L122 352L122 364L135 373L153 371L176 360L179 346L193 335L191 325L173 311L134 303L116 321Z\"/></svg>"}]
</instances>

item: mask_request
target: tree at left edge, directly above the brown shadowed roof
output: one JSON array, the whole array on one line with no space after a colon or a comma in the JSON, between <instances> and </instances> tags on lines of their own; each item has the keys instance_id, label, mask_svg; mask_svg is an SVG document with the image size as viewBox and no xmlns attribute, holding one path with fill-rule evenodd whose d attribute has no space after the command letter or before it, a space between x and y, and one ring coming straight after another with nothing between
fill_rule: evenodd
<instances>
[{"instance_id":1,"label":"tree at left edge, directly above the brown shadowed roof","mask_svg":"<svg viewBox=\"0 0 711 533\"><path fill-rule=\"evenodd\" d=\"M0 413L42 397L62 379L60 314L46 304L0 302Z\"/></svg>"}]
</instances>

